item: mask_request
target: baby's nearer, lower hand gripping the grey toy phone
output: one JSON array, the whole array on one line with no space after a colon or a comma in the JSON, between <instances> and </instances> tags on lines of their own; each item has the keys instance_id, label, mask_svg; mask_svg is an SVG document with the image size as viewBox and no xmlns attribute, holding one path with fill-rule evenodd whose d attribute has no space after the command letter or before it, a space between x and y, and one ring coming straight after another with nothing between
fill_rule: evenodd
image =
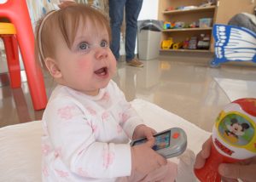
<instances>
[{"instance_id":1,"label":"baby's nearer, lower hand gripping the grey toy phone","mask_svg":"<svg viewBox=\"0 0 256 182\"><path fill-rule=\"evenodd\" d=\"M154 139L150 139L145 144L131 147L132 171L147 174L160 168L160 166L166 165L166 159L152 149L153 145Z\"/></svg>"}]
</instances>

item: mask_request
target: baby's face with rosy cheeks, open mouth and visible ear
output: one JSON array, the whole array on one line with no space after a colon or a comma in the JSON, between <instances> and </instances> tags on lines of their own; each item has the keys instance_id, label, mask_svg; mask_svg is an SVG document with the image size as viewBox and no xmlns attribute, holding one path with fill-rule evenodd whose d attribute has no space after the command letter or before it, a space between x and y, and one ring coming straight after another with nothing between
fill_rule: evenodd
<instances>
[{"instance_id":1,"label":"baby's face with rosy cheeks, open mouth and visible ear","mask_svg":"<svg viewBox=\"0 0 256 182\"><path fill-rule=\"evenodd\" d=\"M61 71L57 82L84 94L96 95L105 88L116 71L116 60L109 48L104 26L79 23L74 43L69 49L63 37L57 36L56 64Z\"/></svg>"}]
</instances>

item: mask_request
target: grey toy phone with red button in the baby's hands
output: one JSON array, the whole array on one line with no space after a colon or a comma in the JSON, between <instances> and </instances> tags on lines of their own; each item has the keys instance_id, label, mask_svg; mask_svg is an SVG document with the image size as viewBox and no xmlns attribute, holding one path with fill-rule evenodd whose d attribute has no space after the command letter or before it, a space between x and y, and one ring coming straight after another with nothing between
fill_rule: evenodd
<instances>
[{"instance_id":1,"label":"grey toy phone with red button in the baby's hands","mask_svg":"<svg viewBox=\"0 0 256 182\"><path fill-rule=\"evenodd\" d=\"M165 158L179 156L187 148L187 135L182 128L170 128L154 134L155 143L152 149ZM146 138L131 141L131 146L140 145Z\"/></svg>"}]
</instances>

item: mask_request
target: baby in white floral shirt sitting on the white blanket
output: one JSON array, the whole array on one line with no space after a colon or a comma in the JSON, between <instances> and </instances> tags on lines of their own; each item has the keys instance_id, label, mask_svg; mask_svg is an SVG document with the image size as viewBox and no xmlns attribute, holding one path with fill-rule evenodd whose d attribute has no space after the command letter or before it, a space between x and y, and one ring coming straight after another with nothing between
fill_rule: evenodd
<instances>
[{"instance_id":1,"label":"baby in white floral shirt sitting on the white blanket","mask_svg":"<svg viewBox=\"0 0 256 182\"><path fill-rule=\"evenodd\" d=\"M117 36L117 35L113 35ZM57 83L44 111L43 181L173 181L148 128L115 82L108 19L83 4L38 22L36 54ZM147 137L143 145L129 139Z\"/></svg>"}]
</instances>

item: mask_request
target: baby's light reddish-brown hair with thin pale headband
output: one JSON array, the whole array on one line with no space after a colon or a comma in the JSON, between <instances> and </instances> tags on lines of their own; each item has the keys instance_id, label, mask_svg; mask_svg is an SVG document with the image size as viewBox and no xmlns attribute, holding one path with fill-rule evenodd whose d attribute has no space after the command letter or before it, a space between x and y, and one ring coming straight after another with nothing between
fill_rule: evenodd
<instances>
[{"instance_id":1,"label":"baby's light reddish-brown hair with thin pale headband","mask_svg":"<svg viewBox=\"0 0 256 182\"><path fill-rule=\"evenodd\" d=\"M38 62L44 66L45 58L55 58L55 36L58 33L61 33L67 47L71 48L79 23L83 22L83 26L86 26L89 21L95 27L106 28L109 41L111 40L108 18L88 5L73 3L64 9L46 14L36 26L35 54Z\"/></svg>"}]
</instances>

